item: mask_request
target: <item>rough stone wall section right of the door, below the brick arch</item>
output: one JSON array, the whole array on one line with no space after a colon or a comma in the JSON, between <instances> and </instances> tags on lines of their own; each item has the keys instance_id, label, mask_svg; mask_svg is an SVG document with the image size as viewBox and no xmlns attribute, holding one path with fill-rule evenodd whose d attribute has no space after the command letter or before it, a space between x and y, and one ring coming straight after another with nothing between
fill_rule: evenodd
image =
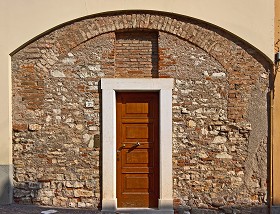
<instances>
[{"instance_id":1,"label":"rough stone wall section right of the door, below the brick arch","mask_svg":"<svg viewBox=\"0 0 280 214\"><path fill-rule=\"evenodd\" d=\"M260 68L254 73L250 81L256 81L247 90L236 90L242 93L239 99L247 99L241 110L230 106L230 98L237 98L231 96L233 74L209 54L166 33L160 33L159 47L163 64L174 61L163 69L175 78L175 202L200 208L265 203L267 91L262 88L266 71ZM234 82L247 81L240 78ZM246 93L251 97L245 97Z\"/></svg>"}]
</instances>

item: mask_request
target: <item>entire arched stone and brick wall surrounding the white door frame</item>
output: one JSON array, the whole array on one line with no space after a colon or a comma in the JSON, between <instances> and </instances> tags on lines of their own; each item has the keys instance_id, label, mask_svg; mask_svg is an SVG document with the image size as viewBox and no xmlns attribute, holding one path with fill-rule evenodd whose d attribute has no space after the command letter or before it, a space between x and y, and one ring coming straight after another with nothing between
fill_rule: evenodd
<instances>
[{"instance_id":1,"label":"entire arched stone and brick wall surrounding the white door frame","mask_svg":"<svg viewBox=\"0 0 280 214\"><path fill-rule=\"evenodd\" d=\"M98 207L100 79L171 77L175 209L266 205L269 69L185 17L111 14L54 30L12 56L15 201Z\"/></svg>"}]
</instances>

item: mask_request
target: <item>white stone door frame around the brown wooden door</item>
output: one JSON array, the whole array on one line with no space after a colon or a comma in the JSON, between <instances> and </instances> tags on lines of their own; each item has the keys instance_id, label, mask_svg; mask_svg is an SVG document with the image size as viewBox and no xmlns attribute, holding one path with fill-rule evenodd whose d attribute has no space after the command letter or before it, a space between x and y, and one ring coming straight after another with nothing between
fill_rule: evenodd
<instances>
[{"instance_id":1,"label":"white stone door frame around the brown wooden door","mask_svg":"<svg viewBox=\"0 0 280 214\"><path fill-rule=\"evenodd\" d=\"M159 201L160 213L173 213L172 185L173 79L102 78L102 211L118 209L116 198L116 92L159 92ZM155 211L155 210L154 210ZM154 212L153 211L153 212Z\"/></svg>"}]
</instances>

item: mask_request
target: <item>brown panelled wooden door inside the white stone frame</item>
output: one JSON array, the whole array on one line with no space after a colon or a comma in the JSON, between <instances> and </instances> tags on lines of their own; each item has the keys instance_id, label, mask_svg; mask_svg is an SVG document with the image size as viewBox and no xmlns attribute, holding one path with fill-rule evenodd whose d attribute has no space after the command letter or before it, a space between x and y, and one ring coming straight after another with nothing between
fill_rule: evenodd
<instances>
[{"instance_id":1,"label":"brown panelled wooden door inside the white stone frame","mask_svg":"<svg viewBox=\"0 0 280 214\"><path fill-rule=\"evenodd\" d=\"M117 93L118 207L158 206L158 120L158 93Z\"/></svg>"}]
</instances>

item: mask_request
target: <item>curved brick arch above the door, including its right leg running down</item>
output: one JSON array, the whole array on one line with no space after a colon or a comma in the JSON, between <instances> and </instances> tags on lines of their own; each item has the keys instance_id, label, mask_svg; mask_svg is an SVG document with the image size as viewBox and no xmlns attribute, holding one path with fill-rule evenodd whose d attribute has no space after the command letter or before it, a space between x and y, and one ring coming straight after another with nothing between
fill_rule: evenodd
<instances>
[{"instance_id":1,"label":"curved brick arch above the door, including its right leg running down","mask_svg":"<svg viewBox=\"0 0 280 214\"><path fill-rule=\"evenodd\" d=\"M251 86L258 81L259 73L263 69L269 70L271 64L256 48L219 27L163 12L120 12L87 17L70 23L50 33L49 36L56 37L58 42L47 45L49 50L56 50L56 54L61 56L99 35L133 29L167 32L207 52L228 72L231 89L229 119L244 120L245 100L250 97ZM45 54L48 54L48 51ZM42 68L44 67L42 65Z\"/></svg>"}]
</instances>

